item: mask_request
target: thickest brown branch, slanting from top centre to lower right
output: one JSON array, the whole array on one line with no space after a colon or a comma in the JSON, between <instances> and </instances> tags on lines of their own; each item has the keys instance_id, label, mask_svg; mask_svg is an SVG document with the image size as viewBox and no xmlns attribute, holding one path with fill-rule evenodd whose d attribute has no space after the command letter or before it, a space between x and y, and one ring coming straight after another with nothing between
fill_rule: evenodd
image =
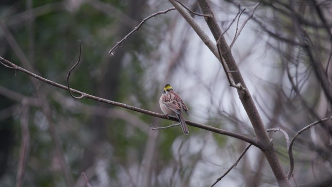
<instances>
[{"instance_id":1,"label":"thickest brown branch, slanting from top centre to lower right","mask_svg":"<svg viewBox=\"0 0 332 187\"><path fill-rule=\"evenodd\" d=\"M213 11L207 0L198 0L198 2L202 10L202 13L212 15L212 18L206 18L205 20L211 30L211 33L214 35L214 38L216 40L219 40L220 42L218 51L220 51L220 54L225 60L226 65L229 68L228 70L236 71L232 73L232 79L234 83L235 84L240 83L239 85L240 87L243 86L244 88L246 88L246 91L238 90L238 96L239 99L241 100L244 109L246 110L251 125L255 131L255 134L257 136L257 141L262 142L265 146L264 149L262 149L262 151L266 157L266 160L268 161L270 168L272 169L273 174L279 186L290 187L291 185L289 183L289 180L287 179L287 176L285 175L285 172L279 161L277 153L273 148L273 142L266 133L263 120L261 119L257 107L254 101L252 100L252 97L250 96L246 83L244 82L241 72L239 71L239 68L232 55L232 51L228 46L226 39L223 37L223 35L221 35L221 30L217 24L216 18L213 16Z\"/></svg>"}]
</instances>

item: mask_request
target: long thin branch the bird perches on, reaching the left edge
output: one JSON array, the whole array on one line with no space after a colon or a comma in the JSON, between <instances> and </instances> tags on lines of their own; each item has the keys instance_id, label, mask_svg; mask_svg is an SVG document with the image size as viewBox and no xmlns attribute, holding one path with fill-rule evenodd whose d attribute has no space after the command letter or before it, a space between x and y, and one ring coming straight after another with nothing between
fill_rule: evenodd
<instances>
[{"instance_id":1,"label":"long thin branch the bird perches on, reaching the left edge","mask_svg":"<svg viewBox=\"0 0 332 187\"><path fill-rule=\"evenodd\" d=\"M59 87L61 89L65 89L65 90L68 89L67 86L65 86L65 85L60 85L58 83L50 81L49 79L45 79L44 77L36 75L33 72L26 70L25 68L21 68L21 67L15 65L15 64L13 64L12 62L4 59L1 56L0 56L0 62L1 62L1 64L5 64L6 66L14 68L14 69L16 69L18 71L21 71L23 73L26 73L26 74L30 75L31 77L34 77L34 78L36 78L40 81L43 81L43 82L45 82L49 85L53 85L55 87ZM75 90L75 89L72 89L72 88L70 88L70 91L72 93L76 93L76 94L80 94L80 95L84 94L85 98L92 99L92 100L95 100L95 101L104 102L104 103L107 103L107 104L119 106L119 107L122 107L122 108L126 108L126 109L129 109L129 110L133 110L133 111L142 113L142 114L146 114L146 115L149 115L149 116L154 116L154 117L161 118L161 119L168 119L168 120L179 122L179 119L173 118L173 117L168 117L164 114L159 114L159 113L152 112L152 111L149 111L149 110L144 110L144 109L134 107L134 106L131 106L131 105L128 105L128 104L125 104L125 103L121 103L121 102L114 102L114 101L111 101L111 100L106 100L106 99L96 97L96 96L93 96L93 95L90 95L90 94L87 94L87 93L84 93L84 92L81 92L81 91L78 91L78 90ZM200 129L204 129L204 130L211 131L211 132L221 134L221 135L232 136L232 137L241 139L243 141L246 141L246 142L248 142L248 143L250 143L250 144L252 144L252 145L254 145L254 146L256 146L260 149L262 148L262 145L260 143L258 143L256 140L254 140L253 138L250 138L248 136L244 136L244 135L241 135L241 134L238 134L238 133L226 131L226 130L223 130L223 129L218 129L216 127L200 124L200 123L197 123L197 122L194 122L194 121L185 120L185 122L186 122L186 124L188 124L190 126L198 127Z\"/></svg>"}]
</instances>

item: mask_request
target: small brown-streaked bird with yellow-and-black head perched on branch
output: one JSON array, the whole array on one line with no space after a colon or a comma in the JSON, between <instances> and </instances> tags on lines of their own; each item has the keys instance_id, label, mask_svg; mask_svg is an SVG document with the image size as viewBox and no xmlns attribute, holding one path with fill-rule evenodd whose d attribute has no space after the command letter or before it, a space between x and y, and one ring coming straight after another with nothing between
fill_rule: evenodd
<instances>
[{"instance_id":1,"label":"small brown-streaked bird with yellow-and-black head perched on branch","mask_svg":"<svg viewBox=\"0 0 332 187\"><path fill-rule=\"evenodd\" d=\"M159 104L164 114L177 117L180 120L183 133L188 135L188 127L183 119L183 111L188 114L188 108L171 85L165 85L164 93L159 99Z\"/></svg>"}]
</instances>

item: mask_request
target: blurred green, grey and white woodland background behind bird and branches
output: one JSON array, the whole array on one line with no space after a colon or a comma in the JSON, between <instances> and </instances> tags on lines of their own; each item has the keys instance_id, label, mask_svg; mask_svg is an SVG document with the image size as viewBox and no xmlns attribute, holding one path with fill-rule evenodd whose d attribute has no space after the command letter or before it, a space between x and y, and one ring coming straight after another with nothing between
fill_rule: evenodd
<instances>
[{"instance_id":1,"label":"blurred green, grey and white woodland background behind bird and branches","mask_svg":"<svg viewBox=\"0 0 332 187\"><path fill-rule=\"evenodd\" d=\"M200 13L197 1L182 2ZM224 35L231 44L257 1L209 3L222 31L229 28ZM66 85L80 39L72 88L161 113L159 97L169 83L189 108L185 119L254 137L221 64L176 10L147 20L114 56L108 54L143 18L170 7L167 0L1 0L0 56ZM213 39L204 18L192 16ZM331 27L330 0L260 1L232 53L266 129L282 128L293 137L332 116L322 88L331 90ZM190 126L189 136L180 127L150 129L170 124L101 102L75 101L66 90L0 66L0 187L83 187L82 172L93 187L208 187L248 145ZM326 121L295 141L297 184L332 176L331 132ZM269 135L287 172L285 139L279 132ZM252 146L216 186L226 185L277 183Z\"/></svg>"}]
</instances>

